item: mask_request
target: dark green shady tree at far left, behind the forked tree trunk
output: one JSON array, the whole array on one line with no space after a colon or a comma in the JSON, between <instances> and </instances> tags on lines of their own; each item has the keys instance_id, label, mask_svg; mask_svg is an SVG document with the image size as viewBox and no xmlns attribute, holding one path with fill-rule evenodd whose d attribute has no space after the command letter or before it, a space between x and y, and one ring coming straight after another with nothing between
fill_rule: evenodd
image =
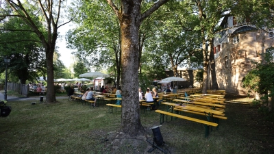
<instances>
[{"instance_id":1,"label":"dark green shady tree at far left, behind the forked tree trunk","mask_svg":"<svg viewBox=\"0 0 274 154\"><path fill-rule=\"evenodd\" d=\"M0 25L0 53L11 58L9 74L14 81L26 84L27 80L34 81L38 73L46 72L43 50L39 38L19 18L10 18Z\"/></svg>"}]
</instances>

